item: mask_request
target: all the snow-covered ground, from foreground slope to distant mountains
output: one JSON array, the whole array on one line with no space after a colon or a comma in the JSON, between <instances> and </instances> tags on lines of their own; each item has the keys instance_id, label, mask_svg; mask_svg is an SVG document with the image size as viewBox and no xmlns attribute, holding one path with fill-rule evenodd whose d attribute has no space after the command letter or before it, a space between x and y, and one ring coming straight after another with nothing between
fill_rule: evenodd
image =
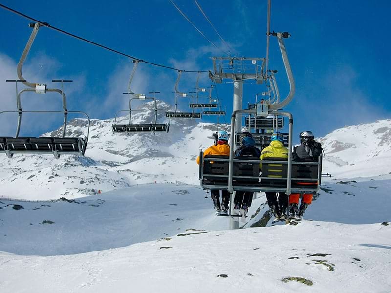
<instances>
[{"instance_id":1,"label":"all the snow-covered ground, from foreground slope to distant mountains","mask_svg":"<svg viewBox=\"0 0 391 293\"><path fill-rule=\"evenodd\" d=\"M334 177L305 220L272 225L261 193L239 230L198 184L217 125L127 137L92 122L84 158L0 157L1 293L391 292L390 119L319 139Z\"/></svg>"}]
</instances>

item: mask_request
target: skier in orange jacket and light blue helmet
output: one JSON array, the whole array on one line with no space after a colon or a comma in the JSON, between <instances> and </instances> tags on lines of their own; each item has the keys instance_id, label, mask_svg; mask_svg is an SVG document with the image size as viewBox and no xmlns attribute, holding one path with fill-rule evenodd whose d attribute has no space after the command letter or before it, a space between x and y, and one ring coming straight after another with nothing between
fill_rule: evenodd
<instances>
[{"instance_id":1,"label":"skier in orange jacket and light blue helmet","mask_svg":"<svg viewBox=\"0 0 391 293\"><path fill-rule=\"evenodd\" d=\"M204 151L204 156L206 155L220 155L220 156L229 156L229 145L228 145L228 133L224 130L217 132L217 142L216 145L210 146ZM197 164L199 165L199 156L197 157ZM220 205L220 190L211 190L211 198L213 204L215 205L215 210L217 212L222 211L227 213L229 209L229 198L230 195L228 190L221 190L222 196L222 205Z\"/></svg>"}]
</instances>

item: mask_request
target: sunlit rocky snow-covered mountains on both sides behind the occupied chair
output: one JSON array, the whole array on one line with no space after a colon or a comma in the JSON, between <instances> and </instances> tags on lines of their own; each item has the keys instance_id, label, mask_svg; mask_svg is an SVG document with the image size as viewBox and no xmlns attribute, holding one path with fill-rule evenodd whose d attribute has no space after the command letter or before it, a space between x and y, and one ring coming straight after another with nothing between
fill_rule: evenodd
<instances>
[{"instance_id":1,"label":"sunlit rocky snow-covered mountains on both sides behind the occupied chair","mask_svg":"<svg viewBox=\"0 0 391 293\"><path fill-rule=\"evenodd\" d=\"M143 108L153 109L152 102ZM159 109L169 109L158 102ZM132 123L152 122L153 111L136 112ZM117 123L126 123L121 117ZM158 122L168 122L159 111ZM62 155L15 155L0 157L0 196L22 199L77 198L99 190L151 182L198 184L199 149L213 143L212 132L221 125L197 119L172 119L169 133L113 134L112 119L91 120L85 157ZM58 136L61 128L44 135ZM72 120L67 136L87 135L87 121ZM391 119L346 126L320 138L326 152L324 173L336 179L390 177ZM387 177L388 176L388 177Z\"/></svg>"}]
</instances>

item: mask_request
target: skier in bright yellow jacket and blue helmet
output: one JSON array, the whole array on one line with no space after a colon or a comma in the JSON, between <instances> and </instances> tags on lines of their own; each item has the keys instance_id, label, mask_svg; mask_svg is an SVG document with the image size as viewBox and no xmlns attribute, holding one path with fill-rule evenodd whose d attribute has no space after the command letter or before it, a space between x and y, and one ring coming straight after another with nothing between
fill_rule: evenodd
<instances>
[{"instance_id":1,"label":"skier in bright yellow jacket and blue helmet","mask_svg":"<svg viewBox=\"0 0 391 293\"><path fill-rule=\"evenodd\" d=\"M261 160L271 158L288 159L288 149L283 145L284 136L281 132L275 132L271 136L270 145L261 152ZM261 165L260 165L261 166ZM285 210L288 205L288 196L285 192L265 192L270 211L276 218L285 216Z\"/></svg>"}]
</instances>

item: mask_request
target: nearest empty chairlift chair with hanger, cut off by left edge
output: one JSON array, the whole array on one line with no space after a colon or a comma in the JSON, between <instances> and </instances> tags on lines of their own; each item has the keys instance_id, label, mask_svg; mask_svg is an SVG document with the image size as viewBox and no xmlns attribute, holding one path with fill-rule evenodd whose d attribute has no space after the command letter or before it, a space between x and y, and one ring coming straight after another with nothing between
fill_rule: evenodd
<instances>
[{"instance_id":1,"label":"nearest empty chairlift chair with hanger, cut off by left edge","mask_svg":"<svg viewBox=\"0 0 391 293\"><path fill-rule=\"evenodd\" d=\"M19 80L7 80L7 82L15 82L16 84L16 103L17 111L1 111L3 113L18 113L18 125L15 137L0 137L0 152L4 152L8 158L12 158L15 153L37 153L48 154L51 153L56 159L60 158L60 154L76 154L84 156L86 152L90 119L85 112L69 111L66 105L66 96L64 93L64 83L72 82L71 80L52 80L52 82L61 82L62 89L47 88L46 84L30 83L22 76L22 66L27 57L28 52L34 42L39 28L42 26L39 23L30 23L33 31L23 50L21 59L19 60L17 73ZM18 83L21 82L29 88L23 88L18 92ZM24 92L35 92L37 94L45 94L47 92L59 93L62 97L63 111L24 111L22 110L21 95ZM20 137L22 113L64 113L63 131L61 137ZM65 137L67 117L69 113L83 114L88 119L87 137Z\"/></svg>"}]
</instances>

